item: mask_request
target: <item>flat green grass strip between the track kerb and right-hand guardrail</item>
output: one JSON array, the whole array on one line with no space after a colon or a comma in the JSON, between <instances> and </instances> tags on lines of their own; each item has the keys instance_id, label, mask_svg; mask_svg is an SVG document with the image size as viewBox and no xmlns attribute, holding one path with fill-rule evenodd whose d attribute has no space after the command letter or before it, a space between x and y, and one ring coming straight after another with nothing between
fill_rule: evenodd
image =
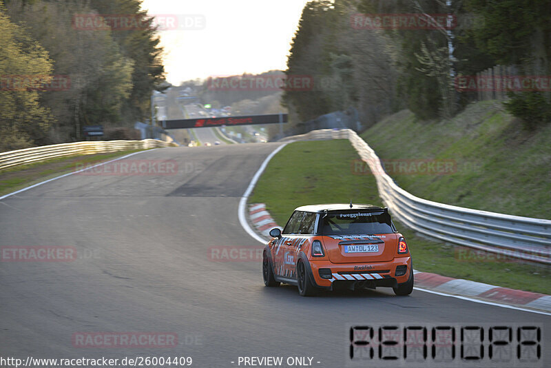
<instances>
[{"instance_id":1,"label":"flat green grass strip between the track kerb and right-hand guardrail","mask_svg":"<svg viewBox=\"0 0 551 368\"><path fill-rule=\"evenodd\" d=\"M382 205L375 177L352 170L359 156L349 141L295 142L270 161L249 203L266 203L279 225L299 205L369 203ZM430 241L395 221L408 241L415 269L454 278L551 294L549 267L523 263L461 260L457 247Z\"/></svg>"}]
</instances>

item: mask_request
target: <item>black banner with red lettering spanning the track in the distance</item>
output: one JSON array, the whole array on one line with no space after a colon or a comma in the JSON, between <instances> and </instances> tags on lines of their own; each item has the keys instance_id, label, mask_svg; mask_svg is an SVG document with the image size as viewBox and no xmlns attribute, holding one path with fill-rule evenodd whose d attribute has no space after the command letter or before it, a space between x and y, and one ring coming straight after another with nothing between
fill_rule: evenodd
<instances>
[{"instance_id":1,"label":"black banner with red lettering spanning the track in the distance","mask_svg":"<svg viewBox=\"0 0 551 368\"><path fill-rule=\"evenodd\" d=\"M223 118L178 119L163 121L165 129L182 129L189 127L219 127L221 125L253 125L287 123L287 114L225 116Z\"/></svg>"}]
</instances>

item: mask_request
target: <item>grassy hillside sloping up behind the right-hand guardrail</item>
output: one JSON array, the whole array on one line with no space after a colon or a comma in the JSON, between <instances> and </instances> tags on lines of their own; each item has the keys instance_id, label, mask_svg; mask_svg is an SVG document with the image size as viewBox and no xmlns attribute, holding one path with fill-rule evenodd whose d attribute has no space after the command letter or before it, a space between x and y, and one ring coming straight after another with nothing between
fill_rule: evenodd
<instances>
[{"instance_id":1,"label":"grassy hillside sloping up behind the right-hand guardrail","mask_svg":"<svg viewBox=\"0 0 551 368\"><path fill-rule=\"evenodd\" d=\"M415 196L551 218L551 125L524 130L501 103L473 103L451 120L430 123L402 110L361 135ZM432 172L419 173L428 165Z\"/></svg>"}]
</instances>

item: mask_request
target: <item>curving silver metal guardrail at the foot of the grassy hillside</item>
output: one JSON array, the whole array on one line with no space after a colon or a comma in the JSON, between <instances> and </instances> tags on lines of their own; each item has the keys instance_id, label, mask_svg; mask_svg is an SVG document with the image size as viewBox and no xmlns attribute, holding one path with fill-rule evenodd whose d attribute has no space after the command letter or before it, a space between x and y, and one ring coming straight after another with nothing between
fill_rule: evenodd
<instances>
[{"instance_id":1,"label":"curving silver metal guardrail at the foot of the grassy hillside","mask_svg":"<svg viewBox=\"0 0 551 368\"><path fill-rule=\"evenodd\" d=\"M427 201L400 188L353 130L314 130L280 141L349 139L377 179L385 205L399 221L430 238L532 262L551 264L551 221Z\"/></svg>"}]
</instances>

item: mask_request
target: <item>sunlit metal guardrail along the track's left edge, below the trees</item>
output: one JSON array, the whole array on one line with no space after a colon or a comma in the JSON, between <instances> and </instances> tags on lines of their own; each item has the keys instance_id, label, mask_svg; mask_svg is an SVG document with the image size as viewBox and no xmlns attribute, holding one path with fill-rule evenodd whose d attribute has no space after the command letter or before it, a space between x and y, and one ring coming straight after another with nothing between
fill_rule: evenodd
<instances>
[{"instance_id":1,"label":"sunlit metal guardrail along the track's left edge, below the trees","mask_svg":"<svg viewBox=\"0 0 551 368\"><path fill-rule=\"evenodd\" d=\"M59 145L43 145L41 147L25 148L23 150L0 153L0 170L17 165L25 165L37 161L54 159L76 154L98 154L124 150L147 150L149 148L176 146L157 139L143 141L86 141L61 143Z\"/></svg>"}]
</instances>

